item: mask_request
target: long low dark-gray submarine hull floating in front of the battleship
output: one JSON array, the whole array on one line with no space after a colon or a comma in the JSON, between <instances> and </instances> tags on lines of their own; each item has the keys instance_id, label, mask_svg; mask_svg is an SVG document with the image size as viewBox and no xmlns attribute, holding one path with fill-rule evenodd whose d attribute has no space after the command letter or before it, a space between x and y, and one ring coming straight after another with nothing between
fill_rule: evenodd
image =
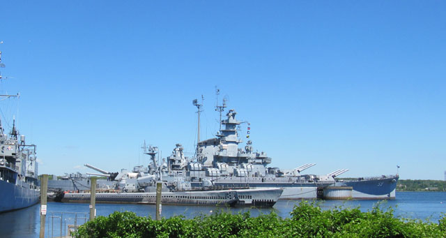
<instances>
[{"instance_id":1,"label":"long low dark-gray submarine hull floating in front of the battleship","mask_svg":"<svg viewBox=\"0 0 446 238\"><path fill-rule=\"evenodd\" d=\"M282 194L280 188L224 191L178 191L162 193L162 204L272 207ZM155 204L156 193L96 193L98 203ZM90 202L90 193L61 193L56 202Z\"/></svg>"}]
</instances>

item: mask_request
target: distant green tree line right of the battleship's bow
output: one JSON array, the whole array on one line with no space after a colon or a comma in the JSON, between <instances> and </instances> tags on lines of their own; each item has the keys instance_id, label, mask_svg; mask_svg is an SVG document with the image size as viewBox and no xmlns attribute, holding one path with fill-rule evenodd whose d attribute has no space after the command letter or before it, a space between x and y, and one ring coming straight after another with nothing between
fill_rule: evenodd
<instances>
[{"instance_id":1,"label":"distant green tree line right of the battleship's bow","mask_svg":"<svg viewBox=\"0 0 446 238\"><path fill-rule=\"evenodd\" d=\"M446 181L399 179L397 191L438 191L446 192Z\"/></svg>"}]
</instances>

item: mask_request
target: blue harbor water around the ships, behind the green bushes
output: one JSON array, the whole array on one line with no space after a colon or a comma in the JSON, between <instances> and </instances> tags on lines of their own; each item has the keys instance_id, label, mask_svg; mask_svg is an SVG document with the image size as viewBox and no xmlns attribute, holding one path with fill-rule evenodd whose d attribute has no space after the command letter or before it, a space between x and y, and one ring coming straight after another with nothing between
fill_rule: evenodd
<instances>
[{"instance_id":1,"label":"blue harbor water around the ships, behind the green bushes","mask_svg":"<svg viewBox=\"0 0 446 238\"><path fill-rule=\"evenodd\" d=\"M250 211L252 216L259 214L269 214L275 211L279 216L289 217L291 210L295 204L300 201L296 200L279 200L273 208L255 209L255 208L222 208L222 207L203 207L203 206L162 206L162 216L170 217L183 215L186 218L192 218L200 214L213 214L223 209L237 213L239 211ZM334 207L360 207L361 211L368 211L376 204L376 200L326 200L317 201L322 209L332 209ZM0 237L38 237L40 232L40 214L39 205L22 209L19 211L0 214ZM440 218L442 212L446 212L446 193L445 192L397 192L396 200L388 200L380 203L381 208L392 207L394 215L399 218L417 218L423 221L436 222ZM108 216L114 211L133 211L138 216L151 216L155 218L155 205L142 204L96 204L98 216ZM84 223L89 217L89 204L70 204L49 202L47 206L47 221L45 237L60 236L60 214L65 213L84 213L77 214L77 224ZM51 218L51 216L55 218ZM87 218L84 218L86 216ZM63 215L63 232L66 232L66 225L73 223L74 214ZM48 229L49 226L49 229ZM49 231L48 231L49 230ZM65 234L65 233L63 233Z\"/></svg>"}]
</instances>

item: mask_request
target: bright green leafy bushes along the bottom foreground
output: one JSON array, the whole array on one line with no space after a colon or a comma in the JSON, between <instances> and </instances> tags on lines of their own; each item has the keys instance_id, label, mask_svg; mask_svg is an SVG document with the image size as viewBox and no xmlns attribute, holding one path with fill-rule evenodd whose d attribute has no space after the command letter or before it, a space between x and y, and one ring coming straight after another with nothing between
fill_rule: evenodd
<instances>
[{"instance_id":1,"label":"bright green leafy bushes along the bottom foreground","mask_svg":"<svg viewBox=\"0 0 446 238\"><path fill-rule=\"evenodd\" d=\"M395 218L392 209L362 212L336 207L322 211L307 201L295 205L291 218L274 212L252 217L249 212L222 211L192 219L183 216L155 221L114 212L82 225L76 237L446 237L446 214L438 223Z\"/></svg>"}]
</instances>

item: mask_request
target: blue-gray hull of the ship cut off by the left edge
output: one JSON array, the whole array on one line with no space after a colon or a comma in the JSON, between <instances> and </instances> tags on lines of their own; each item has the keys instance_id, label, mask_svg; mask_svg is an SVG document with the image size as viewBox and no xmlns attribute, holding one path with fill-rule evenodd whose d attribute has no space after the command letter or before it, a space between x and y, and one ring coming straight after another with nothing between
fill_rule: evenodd
<instances>
[{"instance_id":1,"label":"blue-gray hull of the ship cut off by the left edge","mask_svg":"<svg viewBox=\"0 0 446 238\"><path fill-rule=\"evenodd\" d=\"M0 180L0 212L30 207L38 203L40 191Z\"/></svg>"}]
</instances>

